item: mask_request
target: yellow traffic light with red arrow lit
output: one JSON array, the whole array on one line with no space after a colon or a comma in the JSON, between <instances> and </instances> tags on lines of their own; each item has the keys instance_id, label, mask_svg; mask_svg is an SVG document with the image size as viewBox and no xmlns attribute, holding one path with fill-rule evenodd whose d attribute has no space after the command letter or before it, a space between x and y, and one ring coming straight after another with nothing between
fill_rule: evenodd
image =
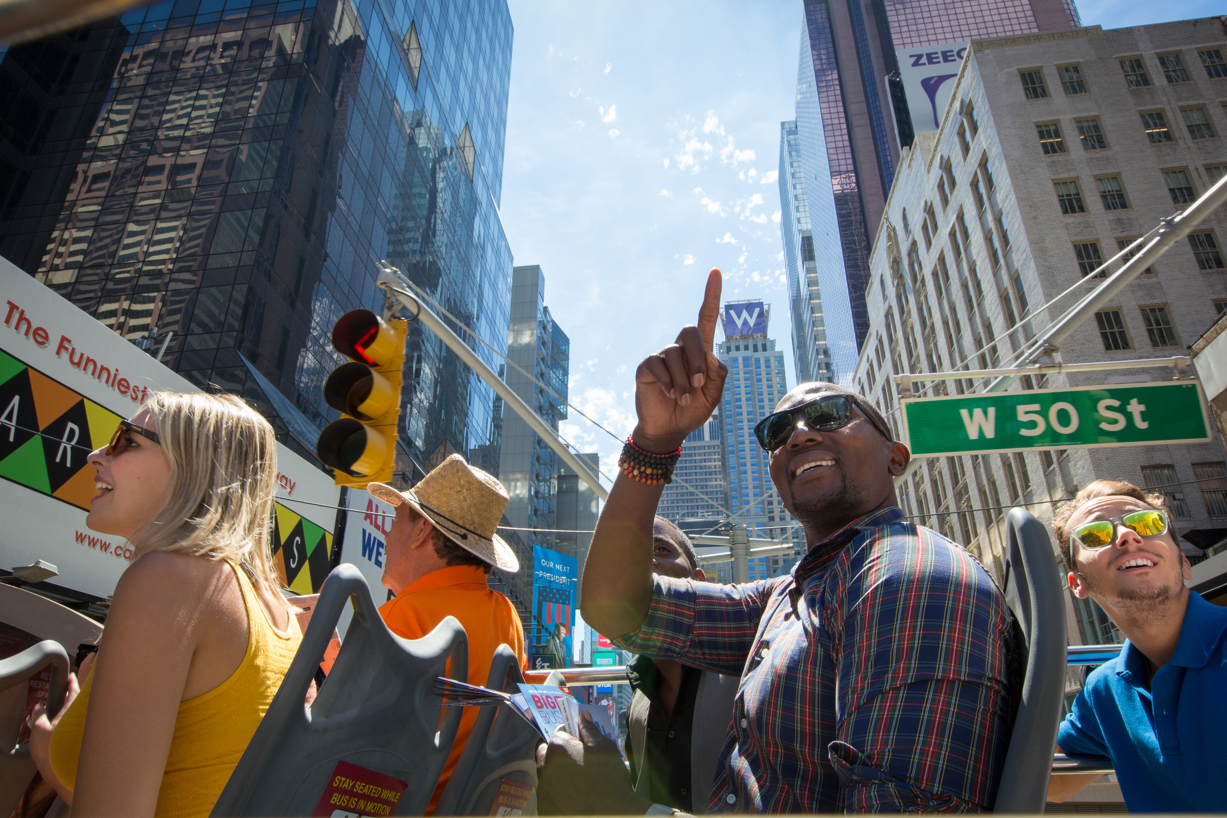
<instances>
[{"instance_id":1,"label":"yellow traffic light with red arrow lit","mask_svg":"<svg viewBox=\"0 0 1227 818\"><path fill-rule=\"evenodd\" d=\"M333 327L333 347L353 361L324 384L325 402L342 417L319 433L315 454L337 486L391 481L407 325L355 309Z\"/></svg>"}]
</instances>

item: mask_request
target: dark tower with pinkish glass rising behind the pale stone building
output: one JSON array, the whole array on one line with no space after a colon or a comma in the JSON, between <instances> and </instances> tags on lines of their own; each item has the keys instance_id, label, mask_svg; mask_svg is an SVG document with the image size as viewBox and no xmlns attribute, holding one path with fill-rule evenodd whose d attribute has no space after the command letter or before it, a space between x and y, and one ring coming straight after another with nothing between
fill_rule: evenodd
<instances>
[{"instance_id":1,"label":"dark tower with pinkish glass rising behind the pale stone building","mask_svg":"<svg viewBox=\"0 0 1227 818\"><path fill-rule=\"evenodd\" d=\"M899 139L910 141L902 86L888 81L898 71L894 50L1080 25L1072 0L805 0L802 49L821 109L858 350L869 331L870 245L894 178ZM818 255L826 249L820 247ZM829 287L823 296L831 298Z\"/></svg>"}]
</instances>

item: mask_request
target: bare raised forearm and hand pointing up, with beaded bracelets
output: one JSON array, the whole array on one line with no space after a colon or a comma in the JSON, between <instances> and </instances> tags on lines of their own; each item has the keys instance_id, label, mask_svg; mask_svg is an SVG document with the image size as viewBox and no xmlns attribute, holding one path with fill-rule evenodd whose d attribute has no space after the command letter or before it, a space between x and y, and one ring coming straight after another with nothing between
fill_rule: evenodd
<instances>
[{"instance_id":1,"label":"bare raised forearm and hand pointing up, with beaded bracelets","mask_svg":"<svg viewBox=\"0 0 1227 818\"><path fill-rule=\"evenodd\" d=\"M720 315L720 271L707 278L698 326L644 358L634 375L640 449L675 451L720 403L728 368L713 354ZM647 486L621 472L601 510L583 576L584 622L607 636L636 630L652 601L652 521L664 486Z\"/></svg>"}]
</instances>

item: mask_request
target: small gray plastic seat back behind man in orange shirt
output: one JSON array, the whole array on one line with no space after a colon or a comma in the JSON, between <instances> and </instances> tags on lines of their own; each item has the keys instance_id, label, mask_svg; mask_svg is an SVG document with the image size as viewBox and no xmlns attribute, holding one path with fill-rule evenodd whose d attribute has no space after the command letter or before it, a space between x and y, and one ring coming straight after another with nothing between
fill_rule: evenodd
<instances>
[{"instance_id":1,"label":"small gray plastic seat back behind man in orange shirt","mask_svg":"<svg viewBox=\"0 0 1227 818\"><path fill-rule=\"evenodd\" d=\"M524 681L520 662L507 645L499 645L490 665L486 687L518 693ZM459 710L460 708L455 708ZM443 789L436 816L490 816L503 779L531 787L534 796L525 814L536 814L536 746L541 737L507 705L482 706L469 742Z\"/></svg>"}]
</instances>

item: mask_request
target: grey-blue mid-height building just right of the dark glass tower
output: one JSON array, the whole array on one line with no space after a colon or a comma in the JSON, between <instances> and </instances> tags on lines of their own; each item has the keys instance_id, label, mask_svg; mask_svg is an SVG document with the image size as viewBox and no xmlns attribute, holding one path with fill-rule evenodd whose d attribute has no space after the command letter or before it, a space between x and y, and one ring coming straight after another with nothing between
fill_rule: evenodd
<instances>
[{"instance_id":1,"label":"grey-blue mid-height building just right of the dark glass tower","mask_svg":"<svg viewBox=\"0 0 1227 818\"><path fill-rule=\"evenodd\" d=\"M567 417L571 340L545 305L545 273L540 265L515 267L512 272L507 357L519 367L507 368L503 378L507 385L557 429L558 421ZM558 455L519 415L504 407L502 416L498 478L510 497L503 515L507 524L518 529L563 527L557 525ZM525 531L523 536L526 551L518 554L521 565L533 564L533 546L557 547L550 531ZM520 571L510 581L518 585L517 592L523 598L533 598L531 571Z\"/></svg>"}]
</instances>

